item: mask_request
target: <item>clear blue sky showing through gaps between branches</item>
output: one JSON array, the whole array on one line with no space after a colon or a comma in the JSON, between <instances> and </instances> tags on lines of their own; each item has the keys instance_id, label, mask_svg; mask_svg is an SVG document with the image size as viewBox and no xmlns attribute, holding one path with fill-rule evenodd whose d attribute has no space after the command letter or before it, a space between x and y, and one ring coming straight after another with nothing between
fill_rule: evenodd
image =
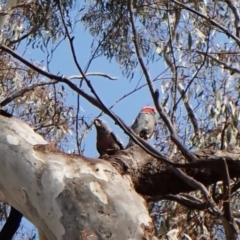
<instances>
[{"instance_id":1,"label":"clear blue sky showing through gaps between branches","mask_svg":"<svg viewBox=\"0 0 240 240\"><path fill-rule=\"evenodd\" d=\"M91 54L91 43L93 38L89 35L87 31L84 30L83 26L80 24L73 34L75 36L74 46L77 53L78 61L80 66L84 69ZM39 48L32 49L31 44L25 48L26 42L23 43L20 48L17 50L18 53L22 54L24 58L28 60L34 60L35 62L45 62L46 63L46 54L44 54ZM161 71L164 71L165 66L160 62L157 62L155 66L151 66L151 76L156 77ZM50 63L50 72L64 76L79 75L77 68L75 67L70 46L67 40L65 40L54 52L53 59ZM134 78L129 81L123 77L120 66L114 61L114 59L109 62L105 57L100 57L95 59L88 72L103 72L109 74L110 76L118 77L117 80L111 81L102 77L91 77L91 83L94 86L95 90L104 101L106 106L110 107L117 101L119 98L127 94L136 88L145 83L145 79L142 77L140 68L135 69ZM78 80L75 81L78 83ZM157 88L160 88L160 82L157 82ZM76 94L69 90L67 87L67 104L76 106L77 96ZM86 86L84 90L89 92ZM94 119L100 111L89 104L84 98L80 100L81 108L86 117L89 117L89 120ZM131 125L135 117L137 116L140 109L145 105L153 105L151 96L149 94L148 88L144 87L136 93L125 98L119 102L114 108L113 111L119 115L127 124ZM113 131L122 139L124 144L127 144L128 137L123 133L123 131L114 124L114 122L106 115L102 116L105 119ZM97 157L98 153L96 151L96 132L93 128L86 136L85 139L85 154L89 157ZM74 145L70 144L70 149L73 150ZM26 219L23 220L23 224L28 229L33 226ZM16 239L21 239L17 237Z\"/></svg>"}]
</instances>

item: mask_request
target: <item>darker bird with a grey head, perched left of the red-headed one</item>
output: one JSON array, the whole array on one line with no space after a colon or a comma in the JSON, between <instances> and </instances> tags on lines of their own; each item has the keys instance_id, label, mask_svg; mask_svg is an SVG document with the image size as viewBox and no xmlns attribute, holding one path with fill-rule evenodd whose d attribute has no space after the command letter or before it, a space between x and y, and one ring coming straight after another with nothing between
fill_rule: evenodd
<instances>
[{"instance_id":1,"label":"darker bird with a grey head, perched left of the red-headed one","mask_svg":"<svg viewBox=\"0 0 240 240\"><path fill-rule=\"evenodd\" d=\"M123 150L123 145L119 138L113 133L107 122L96 118L94 125L97 130L97 150L100 156L113 154L116 150Z\"/></svg>"}]
</instances>

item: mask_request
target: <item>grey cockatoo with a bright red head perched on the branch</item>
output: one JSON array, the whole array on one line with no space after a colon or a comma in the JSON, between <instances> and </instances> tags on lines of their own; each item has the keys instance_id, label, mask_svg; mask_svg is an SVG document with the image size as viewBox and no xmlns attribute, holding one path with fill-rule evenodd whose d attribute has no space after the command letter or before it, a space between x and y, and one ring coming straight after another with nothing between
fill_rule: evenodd
<instances>
[{"instance_id":1,"label":"grey cockatoo with a bright red head perched on the branch","mask_svg":"<svg viewBox=\"0 0 240 240\"><path fill-rule=\"evenodd\" d=\"M144 140L149 140L153 136L156 126L155 112L154 107L143 107L131 126L132 130ZM130 139L127 147L132 145L133 141Z\"/></svg>"}]
</instances>

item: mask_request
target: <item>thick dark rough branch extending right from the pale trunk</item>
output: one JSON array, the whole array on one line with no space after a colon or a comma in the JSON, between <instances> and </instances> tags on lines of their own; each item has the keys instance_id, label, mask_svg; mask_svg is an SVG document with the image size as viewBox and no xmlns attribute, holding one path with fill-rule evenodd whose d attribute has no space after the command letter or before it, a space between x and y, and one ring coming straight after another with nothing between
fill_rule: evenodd
<instances>
[{"instance_id":1,"label":"thick dark rough branch extending right from the pale trunk","mask_svg":"<svg viewBox=\"0 0 240 240\"><path fill-rule=\"evenodd\" d=\"M222 169L216 166L219 166L223 159L226 159L229 166L230 178L240 176L240 152L208 150L198 151L195 154L199 158L198 162L189 163L194 168L188 168L184 172L200 184L210 186L215 182L222 181ZM182 161L182 159L184 157L175 156L173 161ZM155 198L157 200L158 196L190 192L196 190L196 187L198 189L201 187L198 183L186 184L179 179L171 167L152 158L136 145L109 156L106 160L114 164L122 174L130 174L136 191L148 196L147 199ZM208 203L206 202L206 204Z\"/></svg>"}]
</instances>

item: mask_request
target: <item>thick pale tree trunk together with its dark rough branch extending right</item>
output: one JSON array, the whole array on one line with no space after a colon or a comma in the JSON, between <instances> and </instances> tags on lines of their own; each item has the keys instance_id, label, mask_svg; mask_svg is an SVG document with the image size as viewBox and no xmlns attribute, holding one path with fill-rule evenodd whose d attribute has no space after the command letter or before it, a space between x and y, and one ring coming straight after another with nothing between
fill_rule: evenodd
<instances>
[{"instance_id":1,"label":"thick pale tree trunk together with its dark rough branch extending right","mask_svg":"<svg viewBox=\"0 0 240 240\"><path fill-rule=\"evenodd\" d=\"M172 167L137 145L104 159L91 159L58 151L14 118L0 116L0 126L0 200L50 240L151 239L152 220L139 194L157 201L194 190ZM239 177L240 153L194 154L198 161L186 163L182 170L205 186L222 180L223 160L229 177ZM185 159L176 156L174 161L184 163ZM191 200L182 196L178 199ZM202 207L201 202L197 204Z\"/></svg>"}]
</instances>

